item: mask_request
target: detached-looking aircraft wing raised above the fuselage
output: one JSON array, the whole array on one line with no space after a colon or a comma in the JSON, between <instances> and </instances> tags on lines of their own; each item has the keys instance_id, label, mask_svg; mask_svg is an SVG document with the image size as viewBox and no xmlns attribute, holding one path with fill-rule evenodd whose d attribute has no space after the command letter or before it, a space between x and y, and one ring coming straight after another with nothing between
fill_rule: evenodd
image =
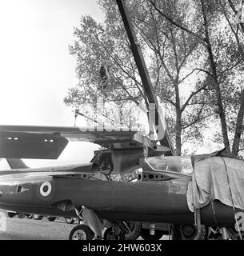
<instances>
[{"instance_id":1,"label":"detached-looking aircraft wing raised above the fuselage","mask_svg":"<svg viewBox=\"0 0 244 256\"><path fill-rule=\"evenodd\" d=\"M142 149L132 130L62 126L0 126L0 158L57 159L70 141L94 142L109 150Z\"/></svg>"}]
</instances>

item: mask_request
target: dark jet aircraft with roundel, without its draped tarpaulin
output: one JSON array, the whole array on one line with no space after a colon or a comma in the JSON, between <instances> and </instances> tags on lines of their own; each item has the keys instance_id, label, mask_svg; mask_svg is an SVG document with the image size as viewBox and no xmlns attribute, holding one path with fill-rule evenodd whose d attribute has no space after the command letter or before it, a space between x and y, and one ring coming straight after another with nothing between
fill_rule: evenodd
<instances>
[{"instance_id":1,"label":"dark jet aircraft with roundel, without its draped tarpaulin","mask_svg":"<svg viewBox=\"0 0 244 256\"><path fill-rule=\"evenodd\" d=\"M157 146L136 131L0 126L0 157L58 158L69 140L94 142L106 150L95 152L86 165L38 169L22 166L22 169L2 171L0 208L83 221L85 208L91 210L89 216L95 216L90 217L92 222L109 223L107 230L110 232L106 232L105 239L125 238L127 223L136 222L174 224L181 226L185 237L197 237L196 213L189 206L190 182L193 181L190 158L158 156L163 152L158 152ZM146 146L150 150L145 157ZM107 176L139 167L143 171L138 174L137 182L116 182ZM201 228L224 227L233 231L236 214L242 212L228 202L213 200L199 208ZM94 226L75 226L70 239L94 238ZM140 226L138 235L143 232Z\"/></svg>"}]
</instances>

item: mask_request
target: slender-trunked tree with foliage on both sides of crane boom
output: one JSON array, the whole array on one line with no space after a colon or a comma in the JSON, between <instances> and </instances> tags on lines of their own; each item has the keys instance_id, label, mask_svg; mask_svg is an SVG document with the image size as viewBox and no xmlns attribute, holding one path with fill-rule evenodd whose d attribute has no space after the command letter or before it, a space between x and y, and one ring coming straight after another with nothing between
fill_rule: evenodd
<instances>
[{"instance_id":1,"label":"slender-trunked tree with foliage on both sides of crane boom","mask_svg":"<svg viewBox=\"0 0 244 256\"><path fill-rule=\"evenodd\" d=\"M70 53L78 60L77 73L80 84L70 89L65 98L67 105L79 106L84 102L96 102L99 83L98 69L102 62L108 63L113 70L114 86L110 87L110 100L121 101L120 96L126 97L135 104L144 102L146 97L142 82L132 58L130 44L123 29L122 20L114 1L102 0L101 6L106 12L106 26L97 24L90 17L83 17L80 28L76 28L74 35L78 40L70 46ZM164 2L166 5L166 2ZM194 129L197 123L208 116L205 113L205 93L207 90L206 75L202 67L196 64L201 58L201 46L198 38L187 34L170 22L162 20L162 14L145 1L128 2L134 28L138 35L138 42L147 60L154 90L168 110L174 113L169 117L171 130L176 134L175 142L177 154L182 152L182 142L190 137L200 135ZM172 2L168 10L177 10L178 19L186 20L190 6L185 3L178 6ZM190 83L190 76L194 75L194 82ZM188 94L184 88L191 87ZM89 95L87 94L89 93ZM193 128L193 129L192 129ZM194 134L183 134L190 130Z\"/></svg>"}]
</instances>

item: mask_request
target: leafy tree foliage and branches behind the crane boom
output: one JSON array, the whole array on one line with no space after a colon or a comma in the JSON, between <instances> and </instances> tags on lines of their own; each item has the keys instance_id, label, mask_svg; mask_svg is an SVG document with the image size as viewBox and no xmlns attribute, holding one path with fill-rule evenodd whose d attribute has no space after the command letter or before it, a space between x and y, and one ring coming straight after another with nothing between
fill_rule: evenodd
<instances>
[{"instance_id":1,"label":"leafy tree foliage and branches behind the crane boom","mask_svg":"<svg viewBox=\"0 0 244 256\"><path fill-rule=\"evenodd\" d=\"M218 144L223 142L230 150L232 142L235 155L242 145L244 26L236 21L238 4L236 0L126 1L177 154L201 142L209 122L220 121L222 132L217 130L213 138ZM98 71L106 63L112 78L104 115L113 126L130 126L130 113L138 125L139 111L134 113L134 107L146 109L146 95L118 6L113 0L100 0L99 5L106 14L104 23L84 16L74 30L70 54L77 59L79 83L70 88L65 103L75 108L90 103L84 110L94 110L101 95ZM126 120L121 120L119 110L126 110Z\"/></svg>"}]
</instances>

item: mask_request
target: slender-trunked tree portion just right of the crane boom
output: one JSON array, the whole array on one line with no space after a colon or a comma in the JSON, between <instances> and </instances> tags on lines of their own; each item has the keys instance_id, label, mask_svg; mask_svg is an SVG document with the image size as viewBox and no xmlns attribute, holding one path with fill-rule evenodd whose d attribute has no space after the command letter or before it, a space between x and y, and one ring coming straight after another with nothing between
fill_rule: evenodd
<instances>
[{"instance_id":1,"label":"slender-trunked tree portion just right of the crane boom","mask_svg":"<svg viewBox=\"0 0 244 256\"><path fill-rule=\"evenodd\" d=\"M171 2L170 5L162 3L164 7L168 8L168 11L175 10L174 14L179 20L186 19L189 9L187 3L180 6L176 2ZM174 109L176 154L180 155L182 152L182 130L203 119L204 94L199 103L195 100L195 96L206 89L206 84L200 81L195 82L190 93L184 96L181 89L181 87L186 87L186 78L197 73L195 72L197 69L189 64L192 62L193 56L199 54L199 43L185 31L172 26L170 22L162 22L162 15L158 14L148 2L146 7L142 1L140 4L137 3L137 6L141 6L138 13L142 16L134 18L134 26L138 29L138 35L146 43L148 51L151 50L153 53L151 58L154 59L154 62L150 66L150 70L153 71L151 77L154 82L154 90L165 104L168 103ZM146 14L143 14L142 10L147 10ZM190 108L193 100L195 100L195 107ZM187 108L190 108L188 113Z\"/></svg>"}]
</instances>

